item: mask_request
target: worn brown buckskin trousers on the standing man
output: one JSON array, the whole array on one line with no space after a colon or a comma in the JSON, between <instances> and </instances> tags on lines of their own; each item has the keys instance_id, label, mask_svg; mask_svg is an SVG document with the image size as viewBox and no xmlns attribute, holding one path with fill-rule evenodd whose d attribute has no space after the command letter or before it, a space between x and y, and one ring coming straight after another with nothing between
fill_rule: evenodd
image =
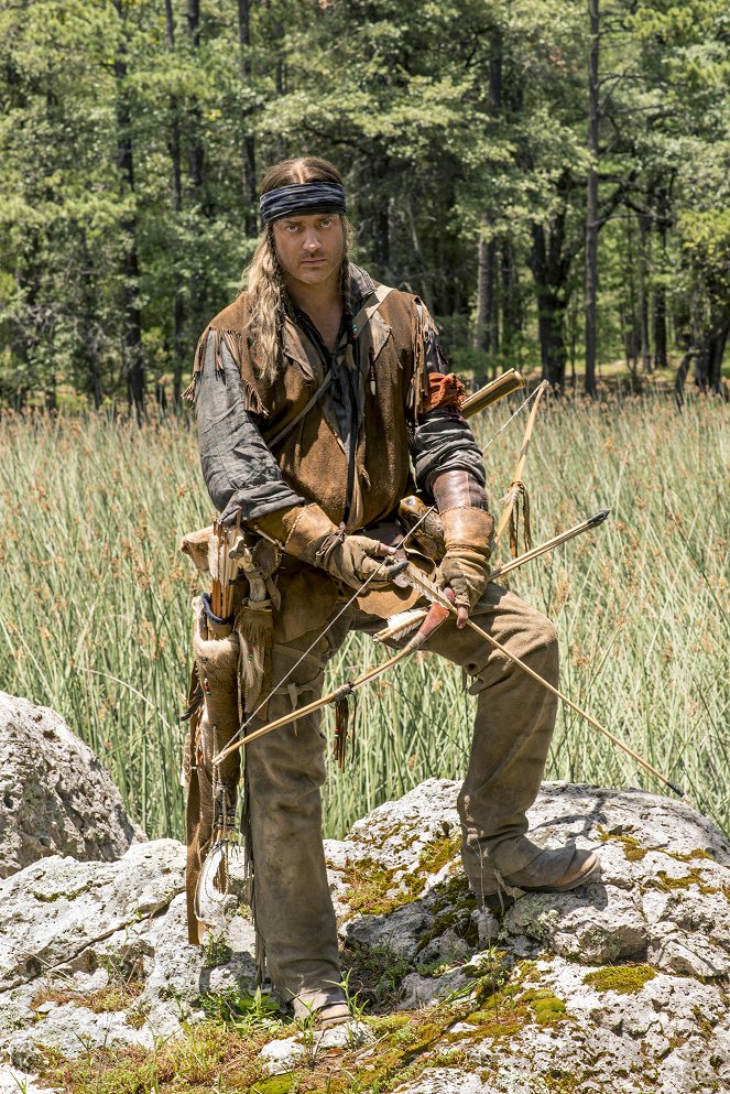
<instances>
[{"instance_id":1,"label":"worn brown buckskin trousers on the standing man","mask_svg":"<svg viewBox=\"0 0 730 1094\"><path fill-rule=\"evenodd\" d=\"M491 583L471 616L541 676L557 684L556 633L543 615ZM318 697L324 662L349 630L372 633L382 626L375 616L347 609L276 689L263 712L265 718L252 722L251 730ZM286 648L274 649L274 682L282 680L315 638L316 632L309 632ZM555 697L468 627L457 630L454 617L439 627L425 649L464 668L471 678L469 691L477 696L471 755L458 798L462 858L472 889L477 895L494 893L499 876L509 881L511 873L530 864L535 868L534 884L549 884L567 867L571 848L543 852L532 844L525 837L525 811L543 777ZM283 999L296 997L315 1008L328 995L338 994L333 986L341 978L322 843L325 740L320 717L322 712L316 712L299 718L247 748L255 914L269 975Z\"/></svg>"}]
</instances>

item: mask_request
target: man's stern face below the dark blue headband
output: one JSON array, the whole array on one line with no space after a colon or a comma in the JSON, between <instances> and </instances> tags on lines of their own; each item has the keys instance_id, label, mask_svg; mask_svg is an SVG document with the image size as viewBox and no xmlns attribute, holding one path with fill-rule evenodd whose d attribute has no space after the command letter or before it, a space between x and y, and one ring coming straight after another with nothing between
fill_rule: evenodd
<instances>
[{"instance_id":1,"label":"man's stern face below the dark blue headband","mask_svg":"<svg viewBox=\"0 0 730 1094\"><path fill-rule=\"evenodd\" d=\"M287 281L320 285L339 277L345 232L336 213L295 214L274 220L273 227L276 254Z\"/></svg>"}]
</instances>

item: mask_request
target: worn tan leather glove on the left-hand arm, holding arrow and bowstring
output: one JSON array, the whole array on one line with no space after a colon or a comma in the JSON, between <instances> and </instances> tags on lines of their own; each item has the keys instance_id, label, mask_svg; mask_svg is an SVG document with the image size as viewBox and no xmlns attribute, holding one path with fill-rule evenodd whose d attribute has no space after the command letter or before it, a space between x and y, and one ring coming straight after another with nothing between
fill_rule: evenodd
<instances>
[{"instance_id":1,"label":"worn tan leather glove on the left-hand arm, holding arrow and bowstring","mask_svg":"<svg viewBox=\"0 0 730 1094\"><path fill-rule=\"evenodd\" d=\"M347 535L316 502L266 513L254 527L282 543L287 554L319 566L350 588L360 588L373 574L370 588L389 585L388 571L378 560L395 554L395 548L367 535Z\"/></svg>"}]
</instances>

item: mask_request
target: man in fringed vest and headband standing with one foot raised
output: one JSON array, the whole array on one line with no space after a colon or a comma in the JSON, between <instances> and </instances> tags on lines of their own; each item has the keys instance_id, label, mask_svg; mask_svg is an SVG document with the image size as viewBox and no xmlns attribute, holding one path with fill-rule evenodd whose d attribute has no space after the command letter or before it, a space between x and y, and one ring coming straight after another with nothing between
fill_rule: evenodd
<instances>
[{"instance_id":1,"label":"man in fringed vest and headband standing with one foot raised","mask_svg":"<svg viewBox=\"0 0 730 1094\"><path fill-rule=\"evenodd\" d=\"M428 639L471 676L477 717L459 795L464 865L478 897L574 888L596 867L573 846L543 851L525 810L543 776L555 700L469 628L472 615L553 684L556 636L537 611L487 584L493 521L481 454L458 411L421 301L348 261L345 193L316 158L274 166L248 291L204 333L194 398L203 472L222 519L283 551L275 576L271 694L249 685L250 730L310 702L350 629L373 632L403 606L388 581L393 519L416 486L433 498L446 555L438 578L458 619ZM352 599L355 591L361 595ZM412 598L413 599L413 598ZM352 602L344 609L348 602ZM260 708L258 708L260 707ZM337 932L325 870L319 716L246 748L254 914L269 974L295 1014L342 1020Z\"/></svg>"}]
</instances>

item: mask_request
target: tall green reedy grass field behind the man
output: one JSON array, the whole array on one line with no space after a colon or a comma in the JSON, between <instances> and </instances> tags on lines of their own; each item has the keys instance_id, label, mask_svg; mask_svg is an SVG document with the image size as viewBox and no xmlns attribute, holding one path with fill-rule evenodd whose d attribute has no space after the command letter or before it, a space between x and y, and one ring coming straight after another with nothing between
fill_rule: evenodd
<instances>
[{"instance_id":1,"label":"tall green reedy grass field behind the man","mask_svg":"<svg viewBox=\"0 0 730 1094\"><path fill-rule=\"evenodd\" d=\"M509 413L502 403L479 420L482 443ZM524 416L488 449L495 510L523 427ZM533 539L600 508L612 517L510 575L558 627L563 690L726 828L729 448L716 401L682 414L656 398L546 405L524 476ZM181 836L178 717L198 577L177 542L211 517L194 430L6 416L0 514L0 687L59 711L146 831ZM330 679L384 656L352 636ZM330 835L428 776L458 778L468 756L473 700L450 665L417 656L359 694L355 751L326 789ZM547 775L662 792L567 708Z\"/></svg>"}]
</instances>

